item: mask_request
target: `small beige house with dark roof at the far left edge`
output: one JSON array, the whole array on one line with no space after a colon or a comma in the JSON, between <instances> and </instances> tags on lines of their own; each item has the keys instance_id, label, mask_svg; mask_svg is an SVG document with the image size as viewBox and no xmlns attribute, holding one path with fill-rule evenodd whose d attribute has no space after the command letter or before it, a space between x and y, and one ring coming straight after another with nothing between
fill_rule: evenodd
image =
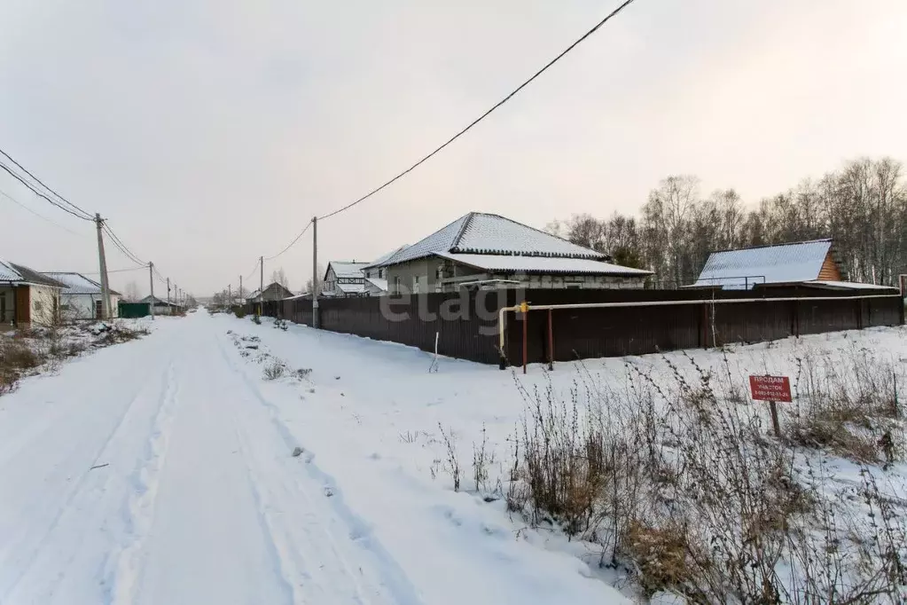
<instances>
[{"instance_id":1,"label":"small beige house with dark roof at the far left edge","mask_svg":"<svg viewBox=\"0 0 907 605\"><path fill-rule=\"evenodd\" d=\"M51 326L60 320L59 281L0 260L0 327Z\"/></svg>"}]
</instances>

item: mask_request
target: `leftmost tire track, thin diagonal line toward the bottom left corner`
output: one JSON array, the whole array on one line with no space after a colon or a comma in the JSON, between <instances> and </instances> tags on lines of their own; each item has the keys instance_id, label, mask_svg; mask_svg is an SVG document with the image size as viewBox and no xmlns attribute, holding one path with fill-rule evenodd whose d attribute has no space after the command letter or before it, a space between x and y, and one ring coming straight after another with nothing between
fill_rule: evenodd
<instances>
[{"instance_id":1,"label":"leftmost tire track, thin diagonal line toward the bottom left corner","mask_svg":"<svg viewBox=\"0 0 907 605\"><path fill-rule=\"evenodd\" d=\"M113 476L112 473L107 473L107 474L93 473L91 471L91 467L98 464L98 461L102 460L105 457L104 456L105 452L107 452L107 450L110 449L112 442L117 437L117 435L120 434L122 427L131 420L132 413L133 413L133 410L135 409L136 402L140 401L142 399L142 397L148 393L150 388L151 388L151 385L146 384L143 387L141 387L140 389L138 389L135 392L135 394L132 395L132 398L130 399L129 404L124 406L122 415L120 415L120 417L117 419L116 423L113 425L111 432L109 434L107 434L107 436L102 441L102 444L100 445L100 447L98 447L98 449L92 455L90 464L88 464L85 467L85 470L79 476L78 480L73 483L73 486L69 490L69 493L66 494L66 497L63 500L63 503L60 505L59 509L54 514L53 520L48 524L47 528L44 530L44 533L42 534L41 539L38 540L36 543L34 543L34 546L32 547L31 552L28 554L28 559L25 562L24 566L22 567L21 571L15 576L15 580L13 580L10 583L10 585L8 587L6 587L5 590L3 590L4 599L0 600L0 602L5 602L5 600L8 599L11 594L14 593L16 588L19 586L20 582L22 582L24 580L24 578L31 571L33 571L35 561L37 561L39 556L45 551L45 549L48 546L48 542L50 542L50 540L54 536L54 533L62 525L64 519L67 516L67 513L72 510L73 504L76 503L76 501L82 500L82 499L87 500L89 503L92 500L96 500L96 498L93 498L93 494L100 495L100 494L104 493L106 491L107 486L110 483L112 483L112 481L114 481L115 477ZM93 489L90 489L92 487L92 484L94 484ZM84 507L80 507L80 508L84 508ZM85 528L85 527L81 528L81 530L83 532L86 529L87 528ZM65 563L68 564L69 562L73 561L75 554L76 554L75 552L70 552ZM44 593L46 593L47 595L53 594L55 586L57 584L59 584L60 581L63 581L63 578L64 578L63 570L58 570L58 572L54 576L54 580L46 582L44 584L42 591ZM3 587L0 587L0 589L3 589Z\"/></svg>"}]
</instances>

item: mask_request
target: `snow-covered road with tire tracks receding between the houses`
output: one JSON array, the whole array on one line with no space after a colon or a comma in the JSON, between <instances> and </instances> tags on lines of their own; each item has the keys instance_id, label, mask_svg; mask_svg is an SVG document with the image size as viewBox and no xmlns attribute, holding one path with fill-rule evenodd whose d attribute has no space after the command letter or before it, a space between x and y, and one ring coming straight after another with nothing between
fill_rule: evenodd
<instances>
[{"instance_id":1,"label":"snow-covered road with tire tracks receding between the houses","mask_svg":"<svg viewBox=\"0 0 907 605\"><path fill-rule=\"evenodd\" d=\"M294 390L263 381L227 333L265 326L204 312L155 324L0 398L0 603L623 600L570 555L475 521L480 499L366 468L381 456L359 457L331 414L356 400L398 413L395 391L422 385L395 384L387 358L362 366L369 351L343 337L268 328L318 359ZM424 380L424 354L386 347ZM354 371L365 379L342 392ZM303 405L330 414L305 424Z\"/></svg>"}]
</instances>

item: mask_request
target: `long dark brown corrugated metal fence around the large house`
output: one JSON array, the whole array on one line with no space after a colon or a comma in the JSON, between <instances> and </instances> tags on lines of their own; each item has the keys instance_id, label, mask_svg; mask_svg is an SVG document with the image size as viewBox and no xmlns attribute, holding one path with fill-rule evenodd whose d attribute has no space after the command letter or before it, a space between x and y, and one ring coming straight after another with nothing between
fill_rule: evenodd
<instances>
[{"instance_id":1,"label":"long dark brown corrugated metal fence around the large house","mask_svg":"<svg viewBox=\"0 0 907 605\"><path fill-rule=\"evenodd\" d=\"M755 294L756 293L756 294ZM853 298L872 291L841 292L766 288L713 290L491 290L432 293L402 297L325 298L319 300L321 328L486 364L499 361L497 310L523 299L534 305L600 302L703 300L703 304L556 309L552 312L554 359L644 355L730 342L844 329L900 325L902 298ZM834 299L812 300L834 296ZM734 304L712 299L787 298ZM519 298L519 299L518 299ZM312 324L312 301L290 298L265 303L263 313L298 324ZM531 312L527 326L530 363L548 359L548 314ZM507 313L505 354L522 363L522 314Z\"/></svg>"}]
</instances>

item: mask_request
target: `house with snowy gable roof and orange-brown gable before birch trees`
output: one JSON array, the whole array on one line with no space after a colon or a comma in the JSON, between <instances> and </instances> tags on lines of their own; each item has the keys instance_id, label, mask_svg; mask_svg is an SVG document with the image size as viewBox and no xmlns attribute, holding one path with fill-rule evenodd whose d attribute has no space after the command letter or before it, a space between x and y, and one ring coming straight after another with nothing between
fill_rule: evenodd
<instances>
[{"instance_id":1,"label":"house with snowy gable roof and orange-brown gable before birch trees","mask_svg":"<svg viewBox=\"0 0 907 605\"><path fill-rule=\"evenodd\" d=\"M831 239L712 252L692 288L750 289L761 284L844 287Z\"/></svg>"}]
</instances>

